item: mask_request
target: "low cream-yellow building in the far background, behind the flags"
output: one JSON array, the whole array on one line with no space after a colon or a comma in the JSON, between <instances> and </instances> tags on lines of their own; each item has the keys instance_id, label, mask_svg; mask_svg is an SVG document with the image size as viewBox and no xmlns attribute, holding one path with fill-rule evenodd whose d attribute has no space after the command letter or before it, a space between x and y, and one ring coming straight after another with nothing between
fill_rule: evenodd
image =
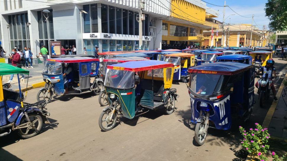
<instances>
[{"instance_id":1,"label":"low cream-yellow building in the far background, behind the flags","mask_svg":"<svg viewBox=\"0 0 287 161\"><path fill-rule=\"evenodd\" d=\"M224 26L225 34L222 39L222 29L218 29L218 41L216 42L216 32L215 29L213 32L213 44L211 44L211 31L204 31L204 46L214 46L214 47L251 47L261 45L261 34L256 32L256 28L253 27L252 38L251 38L251 25L250 24L239 24L239 25L226 25ZM252 40L251 40L252 39ZM251 44L250 44L251 41ZM223 44L221 44L223 42Z\"/></svg>"}]
</instances>

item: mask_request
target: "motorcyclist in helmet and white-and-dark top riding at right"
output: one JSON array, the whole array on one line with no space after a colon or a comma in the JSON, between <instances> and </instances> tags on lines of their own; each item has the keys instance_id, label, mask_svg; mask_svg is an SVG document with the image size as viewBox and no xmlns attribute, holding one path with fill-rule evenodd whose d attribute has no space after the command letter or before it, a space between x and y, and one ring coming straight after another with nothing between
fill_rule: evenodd
<instances>
[{"instance_id":1,"label":"motorcyclist in helmet and white-and-dark top riding at right","mask_svg":"<svg viewBox=\"0 0 287 161\"><path fill-rule=\"evenodd\" d=\"M275 67L273 67L275 61L273 59L268 59L267 62L266 62L266 65L265 66L262 66L256 74L259 74L259 72L261 71L262 72L262 78L265 78L266 80L272 80L272 75L274 75L274 78L277 78L277 75L276 75L276 69ZM259 84L258 82L255 83L255 86L257 88L259 88ZM277 98L276 98L276 91L275 91L275 87L274 87L274 84L271 83L271 89L272 89L272 93L274 95L274 100L276 101Z\"/></svg>"}]
</instances>

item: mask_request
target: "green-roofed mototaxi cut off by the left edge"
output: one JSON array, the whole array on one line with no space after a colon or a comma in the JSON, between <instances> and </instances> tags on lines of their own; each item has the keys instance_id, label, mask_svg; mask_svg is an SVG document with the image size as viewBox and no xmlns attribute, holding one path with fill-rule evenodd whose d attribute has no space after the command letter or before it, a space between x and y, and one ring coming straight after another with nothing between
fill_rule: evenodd
<instances>
[{"instance_id":1,"label":"green-roofed mototaxi cut off by the left edge","mask_svg":"<svg viewBox=\"0 0 287 161\"><path fill-rule=\"evenodd\" d=\"M2 85L2 76L10 74L17 74L19 92L9 89L11 87L9 83ZM50 113L46 111L45 101L33 104L23 102L27 91L24 97L19 74L29 74L29 71L0 63L0 137L17 130L21 138L27 139L36 136L41 131L43 123L50 123L46 117L50 116Z\"/></svg>"}]
</instances>

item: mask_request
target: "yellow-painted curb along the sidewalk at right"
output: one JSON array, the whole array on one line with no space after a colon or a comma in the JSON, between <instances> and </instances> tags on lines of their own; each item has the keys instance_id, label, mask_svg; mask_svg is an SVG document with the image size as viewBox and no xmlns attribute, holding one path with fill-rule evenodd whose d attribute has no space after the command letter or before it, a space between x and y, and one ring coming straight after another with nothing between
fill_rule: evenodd
<instances>
[{"instance_id":1,"label":"yellow-painted curb along the sidewalk at right","mask_svg":"<svg viewBox=\"0 0 287 161\"><path fill-rule=\"evenodd\" d=\"M268 128L269 125L270 125L271 119L272 119L272 117L273 117L273 114L274 114L274 112L275 112L275 109L276 109L276 106L277 106L277 104L278 104L279 98L280 98L280 96L281 96L281 94L282 94L282 91L283 91L283 88L284 88L283 81L286 80L286 79L287 79L287 73L285 74L285 77L284 77L284 79L282 80L282 83L281 83L281 85L280 85L280 87L279 87L279 90L278 90L278 92L277 92L277 94L276 94L276 97L278 98L278 100L272 102L272 104L271 104L271 106L270 106L270 108L269 108L269 110L268 110L268 112L267 112L267 114L266 114L266 116L265 116L265 119L264 119L264 121L263 121L263 123L262 123L262 127L264 127L264 128L265 128L265 127Z\"/></svg>"}]
</instances>

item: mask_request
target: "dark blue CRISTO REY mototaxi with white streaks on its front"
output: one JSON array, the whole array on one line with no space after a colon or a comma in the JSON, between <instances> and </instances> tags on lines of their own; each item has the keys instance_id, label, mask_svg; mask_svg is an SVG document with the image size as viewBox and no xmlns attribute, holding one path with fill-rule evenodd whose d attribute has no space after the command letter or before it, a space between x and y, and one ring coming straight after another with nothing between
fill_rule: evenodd
<instances>
[{"instance_id":1,"label":"dark blue CRISTO REY mototaxi with white streaks on its front","mask_svg":"<svg viewBox=\"0 0 287 161\"><path fill-rule=\"evenodd\" d=\"M217 62L190 68L188 93L191 122L196 124L195 141L202 145L209 122L216 129L228 130L232 117L250 118L254 104L253 65Z\"/></svg>"}]
</instances>

